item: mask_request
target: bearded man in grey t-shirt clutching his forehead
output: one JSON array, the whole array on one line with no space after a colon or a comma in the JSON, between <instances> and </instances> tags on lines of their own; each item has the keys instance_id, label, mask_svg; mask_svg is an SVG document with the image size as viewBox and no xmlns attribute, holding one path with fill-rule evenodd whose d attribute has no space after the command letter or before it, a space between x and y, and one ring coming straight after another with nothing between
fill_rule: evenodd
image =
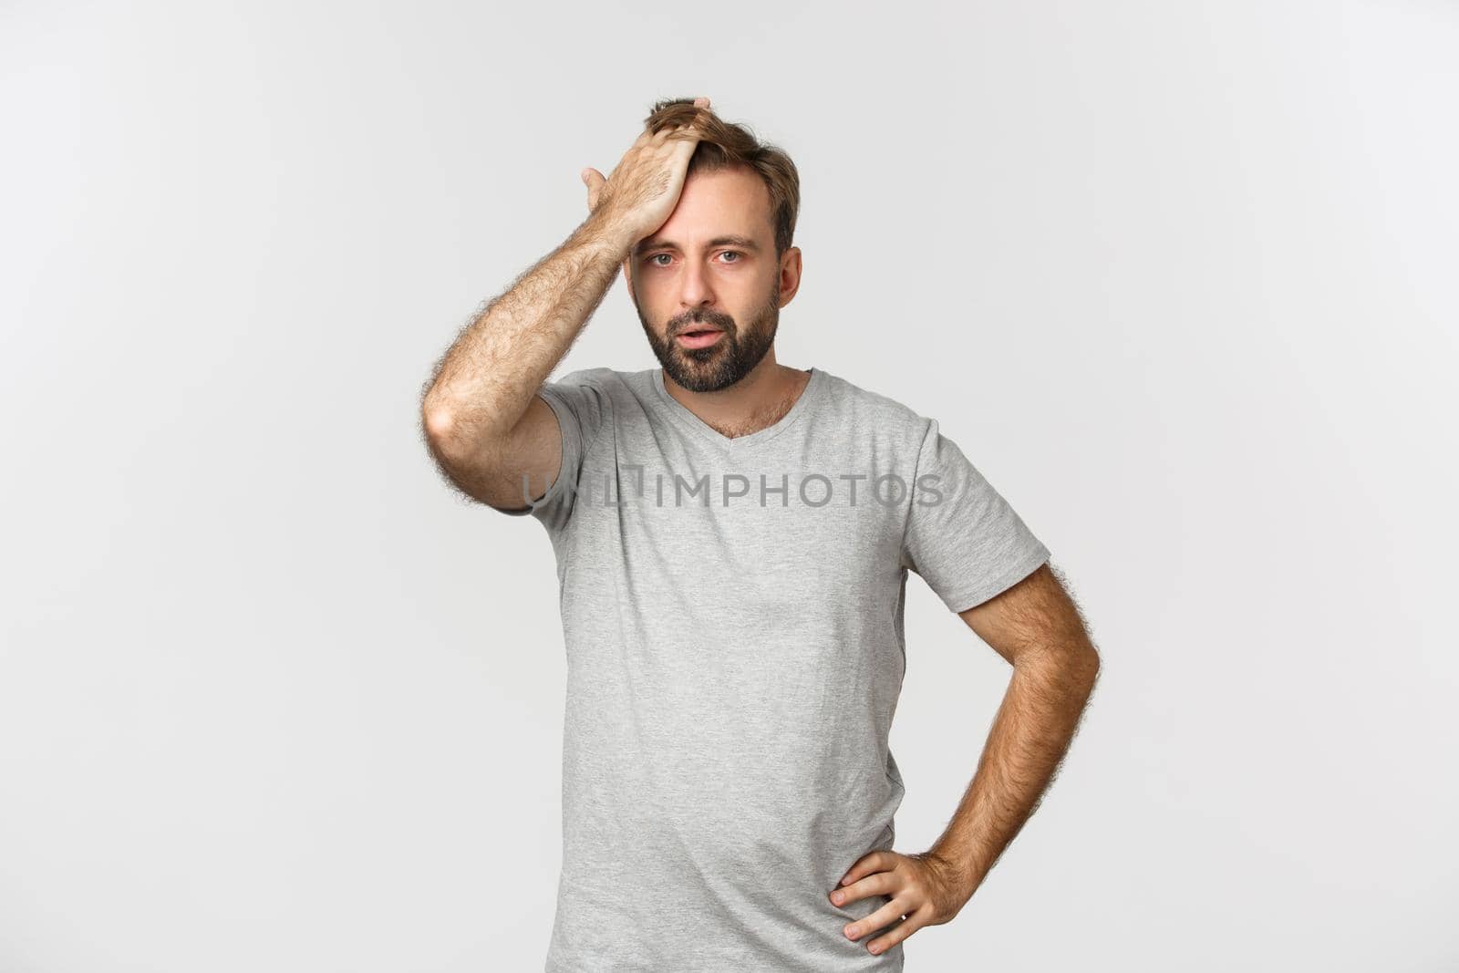
<instances>
[{"instance_id":1,"label":"bearded man in grey t-shirt clutching his forehead","mask_svg":"<svg viewBox=\"0 0 1459 973\"><path fill-rule=\"evenodd\" d=\"M795 166L654 106L588 219L422 403L452 483L549 531L568 649L547 970L900 970L1032 814L1099 656L1048 548L937 420L775 359ZM659 369L547 375L622 265ZM907 570L1013 664L956 817L891 850ZM959 726L960 729L960 726ZM959 756L960 759L960 756Z\"/></svg>"}]
</instances>

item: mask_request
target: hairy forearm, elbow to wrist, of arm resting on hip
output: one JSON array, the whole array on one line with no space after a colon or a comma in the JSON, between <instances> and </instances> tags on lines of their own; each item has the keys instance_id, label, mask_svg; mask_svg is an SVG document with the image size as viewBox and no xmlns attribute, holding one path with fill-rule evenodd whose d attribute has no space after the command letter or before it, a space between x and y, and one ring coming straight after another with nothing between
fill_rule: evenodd
<instances>
[{"instance_id":1,"label":"hairy forearm, elbow to wrist, of arm resting on hip","mask_svg":"<svg viewBox=\"0 0 1459 973\"><path fill-rule=\"evenodd\" d=\"M948 862L969 897L1037 808L1068 753L1099 672L1091 648L1024 654L1014 664L967 792L929 853Z\"/></svg>"}]
</instances>

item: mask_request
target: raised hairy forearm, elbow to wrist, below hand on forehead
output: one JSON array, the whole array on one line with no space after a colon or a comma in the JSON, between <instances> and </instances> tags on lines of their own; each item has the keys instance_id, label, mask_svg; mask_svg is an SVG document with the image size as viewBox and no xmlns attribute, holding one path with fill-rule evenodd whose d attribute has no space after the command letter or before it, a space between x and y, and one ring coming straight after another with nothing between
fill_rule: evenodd
<instances>
[{"instance_id":1,"label":"raised hairy forearm, elbow to wrist, below hand on forehead","mask_svg":"<svg viewBox=\"0 0 1459 973\"><path fill-rule=\"evenodd\" d=\"M630 235L589 216L467 325L422 404L452 451L479 452L511 432L603 302Z\"/></svg>"}]
</instances>

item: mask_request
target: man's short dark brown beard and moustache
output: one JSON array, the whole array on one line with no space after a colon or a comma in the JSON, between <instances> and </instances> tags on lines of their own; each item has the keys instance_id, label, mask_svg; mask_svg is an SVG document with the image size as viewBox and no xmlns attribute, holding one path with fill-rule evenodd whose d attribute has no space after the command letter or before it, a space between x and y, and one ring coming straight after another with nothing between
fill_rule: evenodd
<instances>
[{"instance_id":1,"label":"man's short dark brown beard and moustache","mask_svg":"<svg viewBox=\"0 0 1459 973\"><path fill-rule=\"evenodd\" d=\"M776 282L769 299L760 305L744 328L728 314L694 308L671 318L664 328L668 337L659 337L643 317L638 301L633 302L633 309L638 311L639 324L643 325L654 356L671 379L692 392L718 392L748 375L775 344L775 333L781 322L781 289ZM686 349L677 336L686 330L692 331L694 324L722 328L724 334L709 347Z\"/></svg>"}]
</instances>

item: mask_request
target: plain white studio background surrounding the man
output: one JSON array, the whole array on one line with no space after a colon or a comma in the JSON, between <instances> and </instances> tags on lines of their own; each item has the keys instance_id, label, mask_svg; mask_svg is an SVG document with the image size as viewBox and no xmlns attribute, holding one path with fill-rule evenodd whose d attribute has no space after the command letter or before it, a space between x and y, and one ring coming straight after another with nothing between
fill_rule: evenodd
<instances>
[{"instance_id":1,"label":"plain white studio background surrounding the man","mask_svg":"<svg viewBox=\"0 0 1459 973\"><path fill-rule=\"evenodd\" d=\"M786 149L779 360L938 417L1103 654L934 970L1455 970L1452 3L19 3L0 970L541 969L546 532L416 403L658 98ZM554 375L654 359L622 279ZM899 850L1008 667L909 582Z\"/></svg>"}]
</instances>

